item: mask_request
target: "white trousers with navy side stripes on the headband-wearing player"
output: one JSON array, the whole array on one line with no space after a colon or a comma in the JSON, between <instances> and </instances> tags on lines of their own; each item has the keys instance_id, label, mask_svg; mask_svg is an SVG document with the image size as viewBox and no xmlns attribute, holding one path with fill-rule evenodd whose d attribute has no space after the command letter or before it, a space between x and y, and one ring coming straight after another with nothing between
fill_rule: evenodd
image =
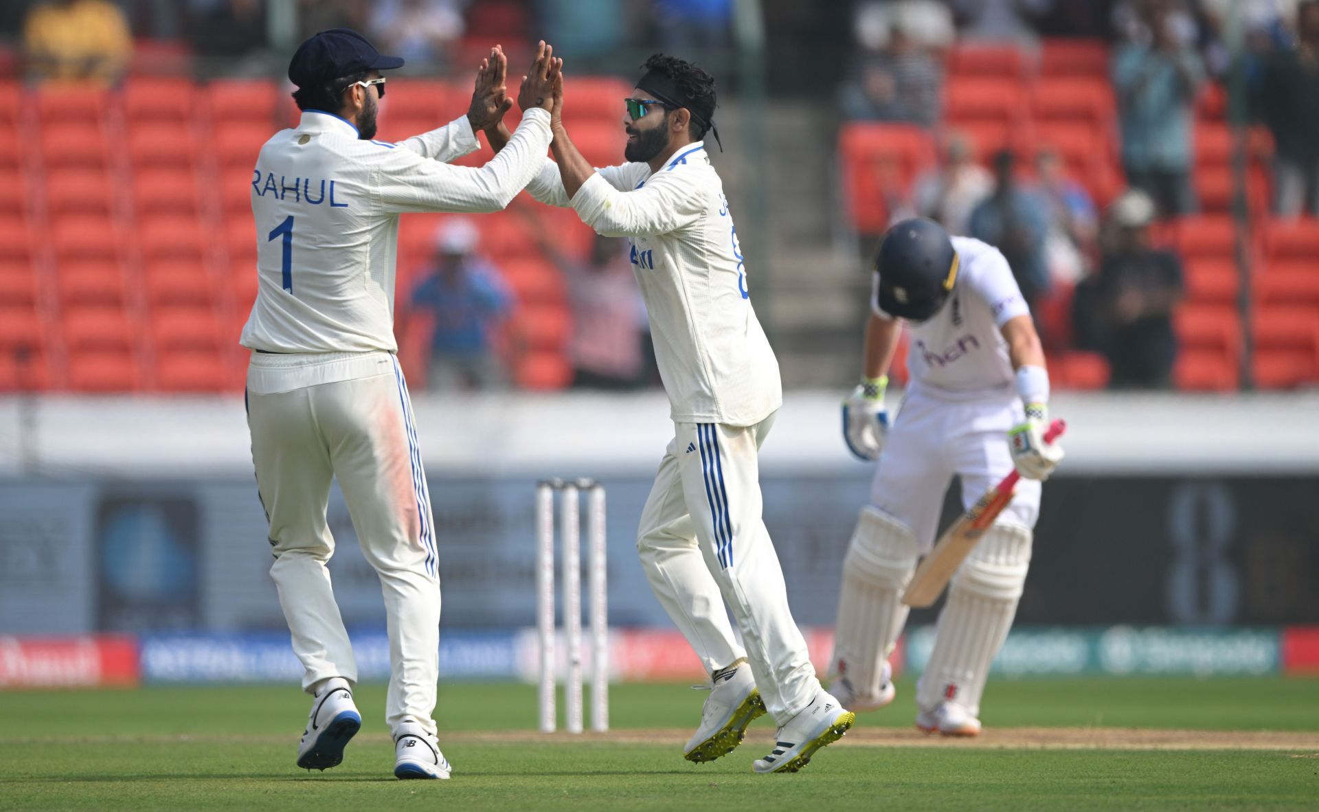
<instances>
[{"instance_id":1,"label":"white trousers with navy side stripes on the headband-wearing player","mask_svg":"<svg viewBox=\"0 0 1319 812\"><path fill-rule=\"evenodd\" d=\"M761 519L758 451L773 422L774 415L745 427L675 423L641 511L637 551L650 588L706 671L747 658L769 714L782 725L820 684Z\"/></svg>"}]
</instances>

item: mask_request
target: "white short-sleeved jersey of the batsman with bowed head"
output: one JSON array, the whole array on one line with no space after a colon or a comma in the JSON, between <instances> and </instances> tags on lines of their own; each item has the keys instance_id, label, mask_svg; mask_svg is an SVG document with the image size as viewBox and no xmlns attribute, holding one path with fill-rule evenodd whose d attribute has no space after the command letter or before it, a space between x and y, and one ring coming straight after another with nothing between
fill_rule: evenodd
<instances>
[{"instance_id":1,"label":"white short-sleeved jersey of the batsman with bowed head","mask_svg":"<svg viewBox=\"0 0 1319 812\"><path fill-rule=\"evenodd\" d=\"M998 249L971 237L952 237L958 278L952 293L930 319L907 323L909 389L952 401L1016 397L1016 376L1001 327L1030 315L1012 268ZM878 306L874 276L871 306Z\"/></svg>"}]
</instances>

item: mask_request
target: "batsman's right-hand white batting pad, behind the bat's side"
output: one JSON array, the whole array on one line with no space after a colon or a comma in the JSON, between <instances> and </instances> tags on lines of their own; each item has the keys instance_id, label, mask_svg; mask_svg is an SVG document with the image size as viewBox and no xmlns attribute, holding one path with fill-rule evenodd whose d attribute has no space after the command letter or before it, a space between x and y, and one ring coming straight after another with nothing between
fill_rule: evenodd
<instances>
[{"instance_id":1,"label":"batsman's right-hand white batting pad, behind the bat's side","mask_svg":"<svg viewBox=\"0 0 1319 812\"><path fill-rule=\"evenodd\" d=\"M995 523L952 576L917 705L933 709L948 700L980 714L989 663L1008 637L1026 583L1030 542L1029 529Z\"/></svg>"}]
</instances>

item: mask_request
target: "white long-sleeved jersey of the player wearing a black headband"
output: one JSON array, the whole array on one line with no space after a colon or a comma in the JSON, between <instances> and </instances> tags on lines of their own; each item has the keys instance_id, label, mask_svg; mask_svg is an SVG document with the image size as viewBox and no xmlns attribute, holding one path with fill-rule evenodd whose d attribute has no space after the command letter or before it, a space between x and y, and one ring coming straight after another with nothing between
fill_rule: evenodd
<instances>
[{"instance_id":1,"label":"white long-sleeved jersey of the player wearing a black headband","mask_svg":"<svg viewBox=\"0 0 1319 812\"><path fill-rule=\"evenodd\" d=\"M737 228L704 144L653 174L648 163L599 169L571 200L546 161L526 190L632 243L674 422L753 426L782 405L778 360L752 308Z\"/></svg>"}]
</instances>

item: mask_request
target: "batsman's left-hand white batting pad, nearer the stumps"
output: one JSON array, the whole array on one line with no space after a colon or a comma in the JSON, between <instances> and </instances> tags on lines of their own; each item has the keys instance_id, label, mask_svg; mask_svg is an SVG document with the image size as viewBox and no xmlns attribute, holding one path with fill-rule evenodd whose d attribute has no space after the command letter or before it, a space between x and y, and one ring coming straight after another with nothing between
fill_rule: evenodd
<instances>
[{"instance_id":1,"label":"batsman's left-hand white batting pad, nearer the stumps","mask_svg":"<svg viewBox=\"0 0 1319 812\"><path fill-rule=\"evenodd\" d=\"M863 701L878 696L884 660L906 622L909 608L900 598L915 571L917 547L910 527L874 508L861 509L843 559L830 668Z\"/></svg>"}]
</instances>

